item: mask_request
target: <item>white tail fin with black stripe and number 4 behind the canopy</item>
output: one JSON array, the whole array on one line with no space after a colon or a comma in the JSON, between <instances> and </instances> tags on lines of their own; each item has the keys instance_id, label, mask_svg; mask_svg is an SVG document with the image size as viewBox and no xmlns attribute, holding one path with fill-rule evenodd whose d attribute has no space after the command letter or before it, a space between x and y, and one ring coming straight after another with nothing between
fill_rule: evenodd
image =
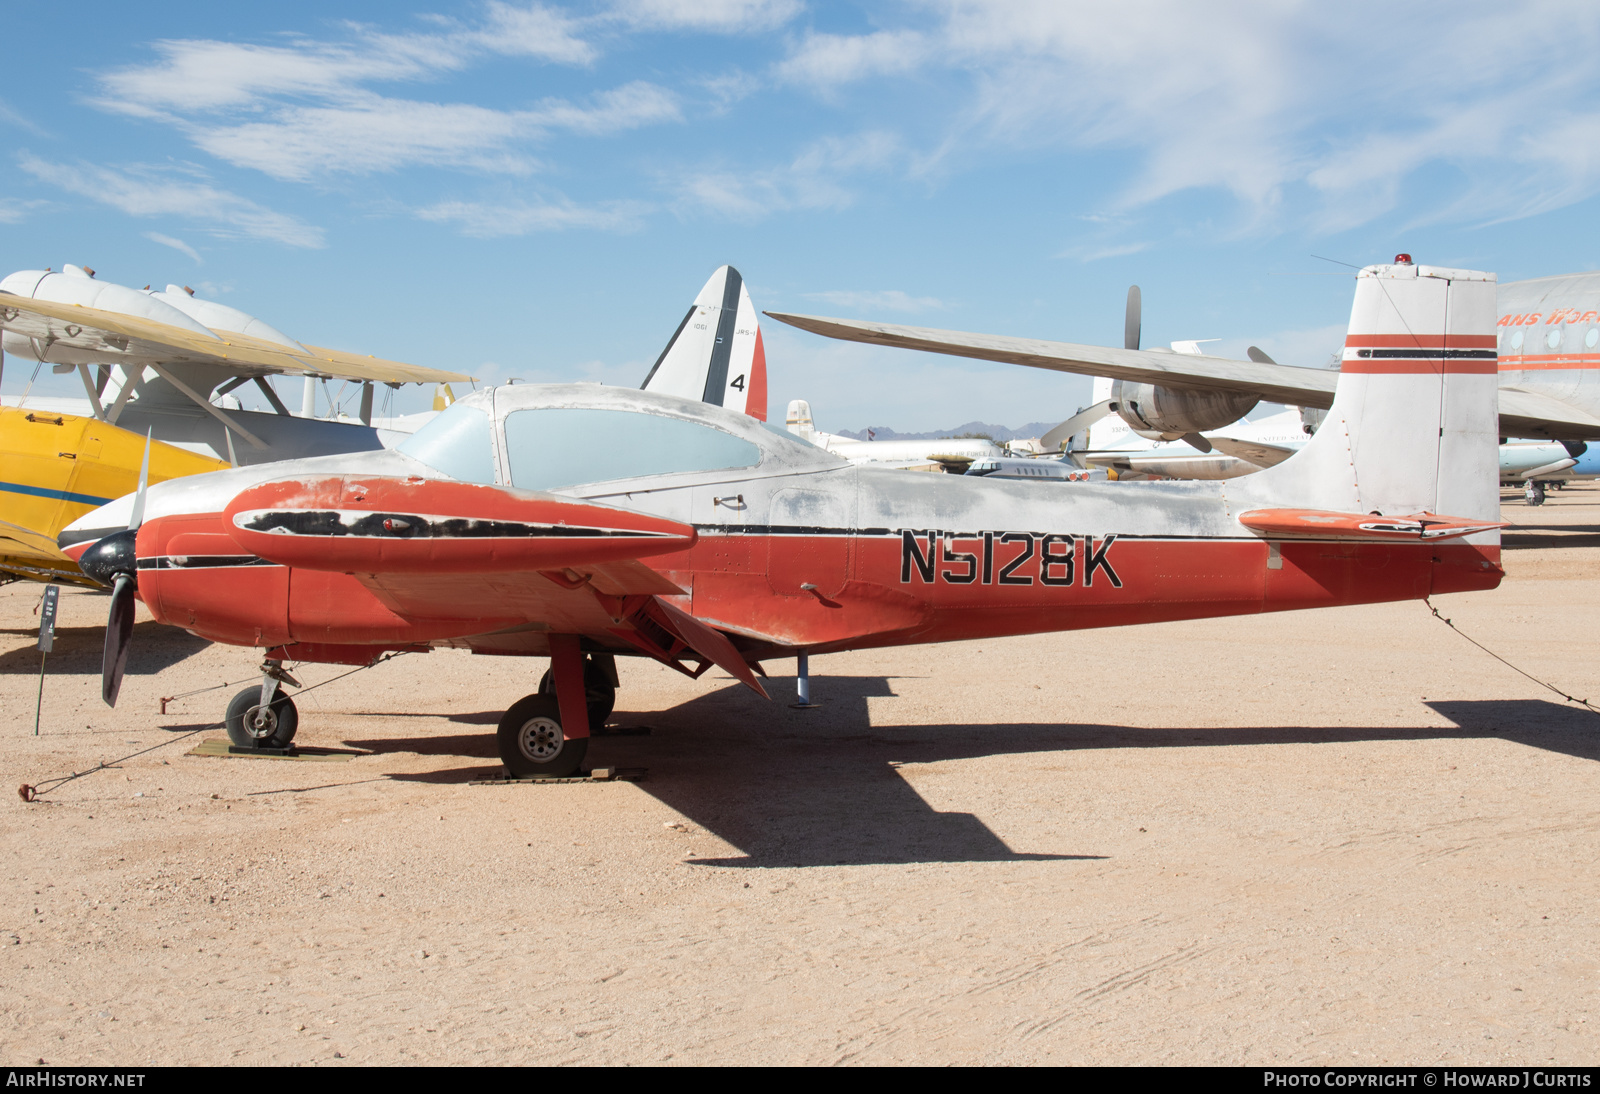
<instances>
[{"instance_id":1,"label":"white tail fin with black stripe and number 4 behind the canopy","mask_svg":"<svg viewBox=\"0 0 1600 1094\"><path fill-rule=\"evenodd\" d=\"M766 421L766 349L739 270L723 266L710 275L643 389Z\"/></svg>"}]
</instances>

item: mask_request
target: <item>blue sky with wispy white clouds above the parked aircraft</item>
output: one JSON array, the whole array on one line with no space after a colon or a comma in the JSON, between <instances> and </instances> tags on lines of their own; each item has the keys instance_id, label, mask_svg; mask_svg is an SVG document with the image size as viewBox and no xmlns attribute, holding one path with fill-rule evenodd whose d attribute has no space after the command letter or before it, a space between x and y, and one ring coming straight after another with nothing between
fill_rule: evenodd
<instances>
[{"instance_id":1,"label":"blue sky with wispy white clouds above the parked aircraft","mask_svg":"<svg viewBox=\"0 0 1600 1094\"><path fill-rule=\"evenodd\" d=\"M29 3L8 34L5 270L488 381L637 385L722 262L758 309L1102 344L1139 283L1147 345L1298 365L1352 288L1312 254L1600 266L1594 3ZM774 416L821 429L1088 401L763 329Z\"/></svg>"}]
</instances>

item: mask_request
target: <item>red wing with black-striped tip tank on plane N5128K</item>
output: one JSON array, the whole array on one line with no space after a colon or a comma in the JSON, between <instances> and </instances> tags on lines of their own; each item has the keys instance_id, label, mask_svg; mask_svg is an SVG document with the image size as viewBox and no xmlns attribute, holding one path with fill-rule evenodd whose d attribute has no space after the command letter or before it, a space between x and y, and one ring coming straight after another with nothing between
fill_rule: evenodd
<instances>
[{"instance_id":1,"label":"red wing with black-striped tip tank on plane N5128K","mask_svg":"<svg viewBox=\"0 0 1600 1094\"><path fill-rule=\"evenodd\" d=\"M765 694L726 635L664 600L685 590L638 561L693 547L691 525L509 486L358 475L259 483L222 520L259 558L354 574L416 630L482 653L525 651L530 632L621 640L674 667L717 664ZM168 549L206 550L181 539Z\"/></svg>"}]
</instances>

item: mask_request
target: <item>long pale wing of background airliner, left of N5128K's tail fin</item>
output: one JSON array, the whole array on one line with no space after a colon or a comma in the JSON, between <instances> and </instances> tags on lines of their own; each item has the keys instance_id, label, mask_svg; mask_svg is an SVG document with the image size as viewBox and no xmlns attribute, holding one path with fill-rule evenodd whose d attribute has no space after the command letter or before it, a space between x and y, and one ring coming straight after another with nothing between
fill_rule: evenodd
<instances>
[{"instance_id":1,"label":"long pale wing of background airliner, left of N5128K's tail fin","mask_svg":"<svg viewBox=\"0 0 1600 1094\"><path fill-rule=\"evenodd\" d=\"M1168 384L1224 392L1259 395L1274 403L1294 406L1333 406L1333 389L1339 374L1320 368L1294 368L1270 361L1235 361L1227 357L1171 353L1166 350L1128 350L1077 342L1045 342L1008 334L970 334L939 331L926 326L898 326L861 320L822 318L818 315L766 315L824 337L869 345L896 345L930 353L971 357L981 361L1003 361L1048 368L1056 373L1109 376L1136 384Z\"/></svg>"}]
</instances>

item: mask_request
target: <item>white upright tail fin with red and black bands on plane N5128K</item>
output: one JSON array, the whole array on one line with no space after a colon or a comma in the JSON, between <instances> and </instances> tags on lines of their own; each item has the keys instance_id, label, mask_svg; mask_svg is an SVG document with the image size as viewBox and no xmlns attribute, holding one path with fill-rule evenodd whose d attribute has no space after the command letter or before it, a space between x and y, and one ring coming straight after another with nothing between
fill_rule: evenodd
<instances>
[{"instance_id":1,"label":"white upright tail fin with red and black bands on plane N5128K","mask_svg":"<svg viewBox=\"0 0 1600 1094\"><path fill-rule=\"evenodd\" d=\"M1326 421L1250 478L1325 510L1498 520L1494 288L1474 270L1363 269Z\"/></svg>"}]
</instances>

